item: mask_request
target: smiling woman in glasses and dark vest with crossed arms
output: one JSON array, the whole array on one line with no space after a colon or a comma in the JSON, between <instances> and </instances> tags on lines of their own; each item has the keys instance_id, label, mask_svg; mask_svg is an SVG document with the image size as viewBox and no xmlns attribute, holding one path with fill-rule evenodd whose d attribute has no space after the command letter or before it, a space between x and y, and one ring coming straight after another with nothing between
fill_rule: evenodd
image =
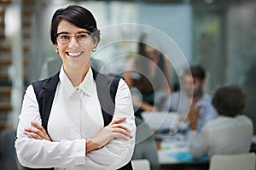
<instances>
[{"instance_id":1,"label":"smiling woman in glasses and dark vest with crossed arms","mask_svg":"<svg viewBox=\"0 0 256 170\"><path fill-rule=\"evenodd\" d=\"M76 5L60 8L50 36L63 65L54 77L26 89L15 141L21 165L132 169L131 94L123 80L90 67L91 51L100 40L93 15Z\"/></svg>"}]
</instances>

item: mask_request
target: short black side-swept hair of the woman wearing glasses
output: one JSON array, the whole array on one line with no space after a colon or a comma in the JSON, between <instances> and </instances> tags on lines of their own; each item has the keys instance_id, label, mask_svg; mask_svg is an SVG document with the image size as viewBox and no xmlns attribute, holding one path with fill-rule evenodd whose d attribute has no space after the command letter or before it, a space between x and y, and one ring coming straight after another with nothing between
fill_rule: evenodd
<instances>
[{"instance_id":1,"label":"short black side-swept hair of the woman wearing glasses","mask_svg":"<svg viewBox=\"0 0 256 170\"><path fill-rule=\"evenodd\" d=\"M50 39L56 43L56 33L61 20L68 20L79 28L94 32L93 37L100 41L100 31L97 29L96 20L93 14L86 8L78 5L70 5L67 8L60 8L55 11L51 20Z\"/></svg>"}]
</instances>

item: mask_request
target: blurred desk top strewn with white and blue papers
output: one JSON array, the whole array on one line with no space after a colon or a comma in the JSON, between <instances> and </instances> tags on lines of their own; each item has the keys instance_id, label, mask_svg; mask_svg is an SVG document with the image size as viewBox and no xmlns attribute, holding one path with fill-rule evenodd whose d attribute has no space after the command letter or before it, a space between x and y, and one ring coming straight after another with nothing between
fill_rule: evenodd
<instances>
[{"instance_id":1,"label":"blurred desk top strewn with white and blue papers","mask_svg":"<svg viewBox=\"0 0 256 170\"><path fill-rule=\"evenodd\" d=\"M208 170L207 156L194 159L189 153L189 143L186 140L164 139L158 150L160 169L173 170Z\"/></svg>"}]
</instances>

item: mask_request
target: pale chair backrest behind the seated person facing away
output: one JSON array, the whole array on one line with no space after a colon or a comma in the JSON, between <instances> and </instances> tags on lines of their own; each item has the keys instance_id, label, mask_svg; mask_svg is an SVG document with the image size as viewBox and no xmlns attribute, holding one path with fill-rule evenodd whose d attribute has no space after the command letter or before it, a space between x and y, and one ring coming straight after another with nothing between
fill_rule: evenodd
<instances>
[{"instance_id":1,"label":"pale chair backrest behind the seated person facing away","mask_svg":"<svg viewBox=\"0 0 256 170\"><path fill-rule=\"evenodd\" d=\"M213 155L210 170L254 170L255 153L236 155Z\"/></svg>"}]
</instances>

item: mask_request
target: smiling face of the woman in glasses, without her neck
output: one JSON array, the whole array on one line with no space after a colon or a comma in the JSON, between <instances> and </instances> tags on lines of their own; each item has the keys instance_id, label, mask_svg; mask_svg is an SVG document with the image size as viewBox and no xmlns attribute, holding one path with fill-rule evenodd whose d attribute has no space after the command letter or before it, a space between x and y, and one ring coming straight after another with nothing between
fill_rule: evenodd
<instances>
[{"instance_id":1,"label":"smiling face of the woman in glasses, without her neck","mask_svg":"<svg viewBox=\"0 0 256 170\"><path fill-rule=\"evenodd\" d=\"M59 35L67 34L76 34L79 32L89 32L86 29L79 28L74 26L71 22L67 20L61 20L57 34L65 33ZM70 42L65 44L56 40L56 48L61 56L64 69L71 68L71 69L84 69L86 65L90 65L90 54L91 50L96 47L96 42L93 40L92 37L86 38L85 41L79 42L76 37L71 37Z\"/></svg>"}]
</instances>

